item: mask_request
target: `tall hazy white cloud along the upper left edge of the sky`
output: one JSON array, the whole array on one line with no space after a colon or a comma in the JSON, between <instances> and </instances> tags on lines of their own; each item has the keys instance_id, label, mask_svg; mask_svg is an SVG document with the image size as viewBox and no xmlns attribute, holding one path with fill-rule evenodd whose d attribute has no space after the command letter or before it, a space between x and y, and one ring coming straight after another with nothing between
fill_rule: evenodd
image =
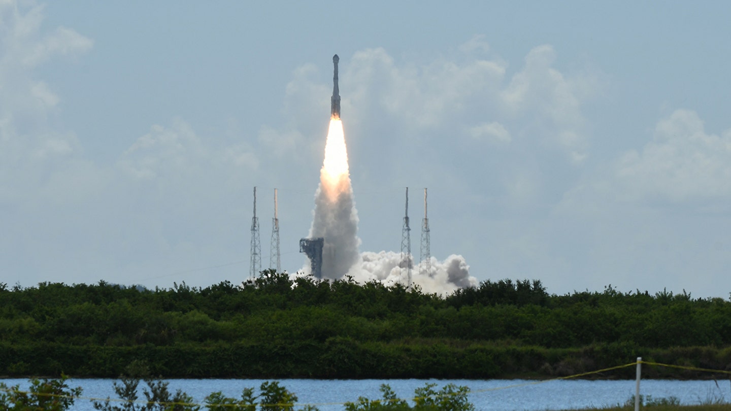
<instances>
[{"instance_id":1,"label":"tall hazy white cloud along the upper left edge of the sky","mask_svg":"<svg viewBox=\"0 0 731 411\"><path fill-rule=\"evenodd\" d=\"M34 74L53 57L84 53L93 42L64 28L43 34L42 21L43 7L0 4L0 200L36 197L80 152L73 132L50 124L59 98Z\"/></svg>"}]
</instances>

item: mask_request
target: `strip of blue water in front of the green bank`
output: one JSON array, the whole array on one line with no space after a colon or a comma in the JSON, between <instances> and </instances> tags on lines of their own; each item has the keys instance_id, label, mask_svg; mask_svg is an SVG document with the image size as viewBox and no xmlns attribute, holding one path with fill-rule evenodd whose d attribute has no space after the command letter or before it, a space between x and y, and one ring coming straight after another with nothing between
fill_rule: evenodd
<instances>
[{"instance_id":1,"label":"strip of blue water in front of the green bank","mask_svg":"<svg viewBox=\"0 0 731 411\"><path fill-rule=\"evenodd\" d=\"M265 380L168 380L170 391L185 391L197 402L213 391L238 398L243 388L258 388ZM539 382L534 380L279 380L298 398L298 406L314 404L321 411L343 410L342 403L357 401L358 396L368 399L381 397L379 387L386 383L401 398L410 398L414 389L427 382L436 383L436 388L452 382L470 388L469 400L477 410L484 411L545 411L570 410L587 407L608 407L624 402L635 393L635 380L587 381L558 380ZM0 380L7 385L20 384L27 388L27 380ZM69 386L83 388L82 396L77 399L73 410L93 410L88 398L116 398L113 391L114 380L72 379ZM141 383L140 385L144 385ZM731 385L728 381L678 381L643 380L640 385L643 396L654 399L674 396L682 404L700 404L722 399L731 401ZM141 395L140 395L141 396ZM144 397L143 397L144 398ZM298 407L295 407L295 409ZM205 410L205 408L203 408Z\"/></svg>"}]
</instances>

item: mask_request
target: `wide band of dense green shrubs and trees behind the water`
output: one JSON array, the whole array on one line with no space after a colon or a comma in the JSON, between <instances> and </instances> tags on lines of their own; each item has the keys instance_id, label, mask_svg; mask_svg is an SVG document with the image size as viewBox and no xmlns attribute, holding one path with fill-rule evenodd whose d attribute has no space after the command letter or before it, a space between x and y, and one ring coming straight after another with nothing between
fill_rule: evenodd
<instances>
[{"instance_id":1,"label":"wide band of dense green shrubs and trees behind the water","mask_svg":"<svg viewBox=\"0 0 731 411\"><path fill-rule=\"evenodd\" d=\"M727 369L731 302L683 293L551 295L501 280L440 297L350 279L171 289L0 283L0 375L495 378L591 372L637 356ZM647 377L718 377L645 366ZM607 377L634 377L634 369Z\"/></svg>"}]
</instances>

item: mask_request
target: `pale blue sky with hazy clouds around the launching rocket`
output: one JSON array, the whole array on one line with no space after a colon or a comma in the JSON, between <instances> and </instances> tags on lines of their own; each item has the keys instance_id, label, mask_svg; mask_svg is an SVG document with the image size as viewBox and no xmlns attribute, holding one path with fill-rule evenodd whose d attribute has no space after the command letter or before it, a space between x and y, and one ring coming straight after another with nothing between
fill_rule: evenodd
<instances>
[{"instance_id":1,"label":"pale blue sky with hazy clouds around the launching rocket","mask_svg":"<svg viewBox=\"0 0 731 411\"><path fill-rule=\"evenodd\" d=\"M305 265L332 56L361 252L731 296L727 1L0 0L0 282Z\"/></svg>"}]
</instances>

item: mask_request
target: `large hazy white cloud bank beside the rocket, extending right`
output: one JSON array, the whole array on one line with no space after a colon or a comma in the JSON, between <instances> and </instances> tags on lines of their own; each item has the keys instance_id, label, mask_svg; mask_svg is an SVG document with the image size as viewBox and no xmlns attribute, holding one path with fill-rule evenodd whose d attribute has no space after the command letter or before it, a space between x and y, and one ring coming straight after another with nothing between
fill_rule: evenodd
<instances>
[{"instance_id":1,"label":"large hazy white cloud bank beside the rocket, extending right","mask_svg":"<svg viewBox=\"0 0 731 411\"><path fill-rule=\"evenodd\" d=\"M452 139L520 139L531 141L520 150L555 147L572 164L586 160L589 135L582 109L599 91L596 75L559 71L550 45L530 50L513 75L505 61L489 55L482 37L470 39L460 51L421 64L398 61L383 48L342 58L344 118L359 131L374 128L368 123L379 118L379 127L393 130L404 142L446 133ZM300 89L316 91L314 86L288 86L290 92ZM330 90L322 86L320 92L328 95Z\"/></svg>"}]
</instances>

